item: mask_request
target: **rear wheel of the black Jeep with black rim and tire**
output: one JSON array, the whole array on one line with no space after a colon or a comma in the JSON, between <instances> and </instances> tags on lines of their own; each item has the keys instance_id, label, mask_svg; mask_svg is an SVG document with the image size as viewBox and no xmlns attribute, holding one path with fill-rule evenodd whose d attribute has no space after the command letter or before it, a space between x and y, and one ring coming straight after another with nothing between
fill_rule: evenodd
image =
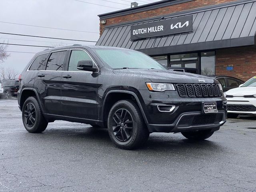
<instances>
[{"instance_id":1,"label":"rear wheel of the black Jeep with black rim and tire","mask_svg":"<svg viewBox=\"0 0 256 192\"><path fill-rule=\"evenodd\" d=\"M22 107L22 122L26 130L30 133L43 132L48 122L45 120L38 101L35 97L29 97Z\"/></svg>"}]
</instances>

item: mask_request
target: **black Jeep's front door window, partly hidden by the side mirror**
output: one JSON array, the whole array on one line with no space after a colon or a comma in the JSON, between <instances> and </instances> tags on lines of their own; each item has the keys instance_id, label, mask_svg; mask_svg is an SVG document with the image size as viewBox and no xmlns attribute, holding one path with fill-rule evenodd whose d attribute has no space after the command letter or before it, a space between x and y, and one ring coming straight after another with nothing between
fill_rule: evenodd
<instances>
[{"instance_id":1,"label":"black Jeep's front door window, partly hidden by the side mirror","mask_svg":"<svg viewBox=\"0 0 256 192\"><path fill-rule=\"evenodd\" d=\"M92 63L94 63L94 61L90 58L90 56L85 51L72 50L70 59L69 59L68 70L81 71L77 69L77 64L78 64L78 61L83 61L83 60L90 60L92 61Z\"/></svg>"}]
</instances>

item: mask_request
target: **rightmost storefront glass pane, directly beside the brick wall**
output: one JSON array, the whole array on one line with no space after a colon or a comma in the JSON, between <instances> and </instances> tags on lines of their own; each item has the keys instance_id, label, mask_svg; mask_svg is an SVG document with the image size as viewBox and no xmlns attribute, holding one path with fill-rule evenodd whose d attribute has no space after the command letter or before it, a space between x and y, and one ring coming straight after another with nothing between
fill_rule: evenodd
<instances>
[{"instance_id":1,"label":"rightmost storefront glass pane, directly beside the brick wall","mask_svg":"<svg viewBox=\"0 0 256 192\"><path fill-rule=\"evenodd\" d=\"M215 75L215 52L201 53L201 75Z\"/></svg>"}]
</instances>

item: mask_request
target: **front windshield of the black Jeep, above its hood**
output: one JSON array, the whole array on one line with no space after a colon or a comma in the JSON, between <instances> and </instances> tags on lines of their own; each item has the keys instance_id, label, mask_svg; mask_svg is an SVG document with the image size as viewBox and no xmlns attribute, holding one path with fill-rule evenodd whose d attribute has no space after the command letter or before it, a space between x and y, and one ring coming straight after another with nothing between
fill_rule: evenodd
<instances>
[{"instance_id":1,"label":"front windshield of the black Jeep, above its hood","mask_svg":"<svg viewBox=\"0 0 256 192\"><path fill-rule=\"evenodd\" d=\"M96 54L110 68L143 68L143 69L161 69L168 70L162 64L141 52L133 50L120 49L95 49Z\"/></svg>"}]
</instances>

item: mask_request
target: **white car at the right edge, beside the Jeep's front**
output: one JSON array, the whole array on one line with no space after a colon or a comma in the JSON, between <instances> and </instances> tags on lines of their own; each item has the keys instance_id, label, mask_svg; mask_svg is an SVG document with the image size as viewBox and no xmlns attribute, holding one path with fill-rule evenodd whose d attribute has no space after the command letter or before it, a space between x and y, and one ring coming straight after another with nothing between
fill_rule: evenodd
<instances>
[{"instance_id":1,"label":"white car at the right edge, beside the Jeep's front","mask_svg":"<svg viewBox=\"0 0 256 192\"><path fill-rule=\"evenodd\" d=\"M224 94L228 100L228 118L236 118L239 114L256 114L256 76Z\"/></svg>"}]
</instances>

